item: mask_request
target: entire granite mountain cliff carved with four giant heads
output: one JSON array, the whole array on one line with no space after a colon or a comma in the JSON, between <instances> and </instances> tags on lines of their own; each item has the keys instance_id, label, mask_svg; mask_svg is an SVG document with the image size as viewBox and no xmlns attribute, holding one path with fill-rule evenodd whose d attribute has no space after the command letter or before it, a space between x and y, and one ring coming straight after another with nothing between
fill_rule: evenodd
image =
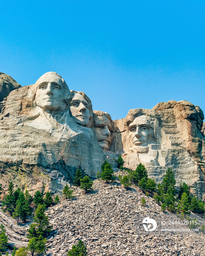
<instances>
[{"instance_id":1,"label":"entire granite mountain cliff carved with four giant heads","mask_svg":"<svg viewBox=\"0 0 205 256\"><path fill-rule=\"evenodd\" d=\"M90 98L70 91L55 72L25 87L1 77L17 88L0 114L0 182L5 188L10 177L31 193L56 193L72 182L78 167L94 178L103 161L116 167L113 159L122 155L124 167L135 169L142 163L157 182L171 167L177 185L182 180L194 195L205 198L205 125L198 106L161 102L153 109L131 109L113 121L110 114L93 111ZM3 98L7 87L2 84Z\"/></svg>"}]
</instances>

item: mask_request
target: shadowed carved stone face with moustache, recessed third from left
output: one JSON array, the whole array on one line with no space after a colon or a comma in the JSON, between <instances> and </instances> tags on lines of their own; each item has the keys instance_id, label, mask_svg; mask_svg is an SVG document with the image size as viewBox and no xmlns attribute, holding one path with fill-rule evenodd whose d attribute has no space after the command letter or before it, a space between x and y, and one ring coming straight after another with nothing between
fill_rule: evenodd
<instances>
[{"instance_id":1,"label":"shadowed carved stone face with moustache, recessed third from left","mask_svg":"<svg viewBox=\"0 0 205 256\"><path fill-rule=\"evenodd\" d=\"M109 150L111 142L111 121L106 116L95 116L94 118L94 132L100 147L104 151Z\"/></svg>"}]
</instances>

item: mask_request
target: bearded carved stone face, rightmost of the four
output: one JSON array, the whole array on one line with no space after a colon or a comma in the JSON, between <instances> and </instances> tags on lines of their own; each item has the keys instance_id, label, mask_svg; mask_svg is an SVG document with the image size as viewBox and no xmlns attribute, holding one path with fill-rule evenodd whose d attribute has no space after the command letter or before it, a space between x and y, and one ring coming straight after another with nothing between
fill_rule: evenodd
<instances>
[{"instance_id":1,"label":"bearded carved stone face, rightmost of the four","mask_svg":"<svg viewBox=\"0 0 205 256\"><path fill-rule=\"evenodd\" d=\"M139 116L129 125L131 147L146 147L150 124L147 116Z\"/></svg>"}]
</instances>

